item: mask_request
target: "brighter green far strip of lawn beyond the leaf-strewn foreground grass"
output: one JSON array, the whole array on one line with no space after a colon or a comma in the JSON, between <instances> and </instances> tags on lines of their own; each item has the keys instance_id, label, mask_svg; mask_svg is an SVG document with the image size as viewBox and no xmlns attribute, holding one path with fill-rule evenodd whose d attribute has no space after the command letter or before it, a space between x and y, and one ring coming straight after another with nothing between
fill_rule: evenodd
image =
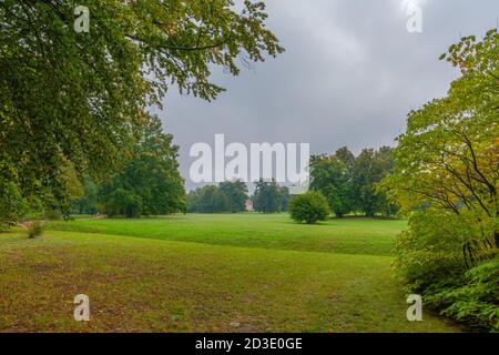
<instances>
[{"instance_id":1,"label":"brighter green far strip of lawn beyond the leaf-strewn foreground grass","mask_svg":"<svg viewBox=\"0 0 499 355\"><path fill-rule=\"evenodd\" d=\"M187 214L162 219L77 220L53 230L103 233L215 245L364 255L391 255L406 221L330 220L296 224L287 214Z\"/></svg>"}]
</instances>

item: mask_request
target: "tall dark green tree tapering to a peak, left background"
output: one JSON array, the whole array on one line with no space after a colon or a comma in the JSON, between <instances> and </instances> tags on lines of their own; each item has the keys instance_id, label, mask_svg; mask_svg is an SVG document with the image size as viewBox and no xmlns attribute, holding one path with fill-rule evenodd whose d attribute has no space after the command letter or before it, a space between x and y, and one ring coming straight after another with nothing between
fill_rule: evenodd
<instances>
[{"instance_id":1,"label":"tall dark green tree tapering to a peak, left background","mask_svg":"<svg viewBox=\"0 0 499 355\"><path fill-rule=\"evenodd\" d=\"M184 181L172 139L163 133L161 121L151 118L118 173L99 184L84 176L84 194L73 199L71 212L125 217L185 212Z\"/></svg>"}]
</instances>

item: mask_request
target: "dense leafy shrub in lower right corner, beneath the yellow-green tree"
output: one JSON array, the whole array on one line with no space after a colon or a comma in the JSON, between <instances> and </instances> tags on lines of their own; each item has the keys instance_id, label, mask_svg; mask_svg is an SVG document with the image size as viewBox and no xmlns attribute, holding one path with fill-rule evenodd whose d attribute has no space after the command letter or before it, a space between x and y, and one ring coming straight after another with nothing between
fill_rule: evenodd
<instances>
[{"instance_id":1,"label":"dense leafy shrub in lower right corner, beneath the yellow-green tree","mask_svg":"<svg viewBox=\"0 0 499 355\"><path fill-rule=\"evenodd\" d=\"M397 239L397 278L407 292L421 294L429 308L472 328L499 332L499 258L487 261L492 254L480 248L472 258L464 254L466 245L480 245L480 227L493 225L428 212L413 213L409 230Z\"/></svg>"}]
</instances>

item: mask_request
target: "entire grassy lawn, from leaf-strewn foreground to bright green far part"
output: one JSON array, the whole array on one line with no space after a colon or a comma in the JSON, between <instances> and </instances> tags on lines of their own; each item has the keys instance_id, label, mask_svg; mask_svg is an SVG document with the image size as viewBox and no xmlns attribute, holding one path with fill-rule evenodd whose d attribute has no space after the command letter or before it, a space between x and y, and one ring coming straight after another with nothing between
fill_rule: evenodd
<instances>
[{"instance_id":1,"label":"entire grassy lawn, from leaf-strewn foreground to bright green far part","mask_svg":"<svg viewBox=\"0 0 499 355\"><path fill-rule=\"evenodd\" d=\"M406 320L390 276L405 221L287 215L58 222L0 234L3 332L458 332ZM86 294L91 321L73 320Z\"/></svg>"}]
</instances>

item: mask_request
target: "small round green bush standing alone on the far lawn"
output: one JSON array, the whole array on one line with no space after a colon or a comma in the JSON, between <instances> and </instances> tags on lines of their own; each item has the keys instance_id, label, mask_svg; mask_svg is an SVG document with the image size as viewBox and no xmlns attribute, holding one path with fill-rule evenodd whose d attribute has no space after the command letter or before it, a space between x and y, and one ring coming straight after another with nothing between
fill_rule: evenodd
<instances>
[{"instance_id":1,"label":"small round green bush standing alone on the far lawn","mask_svg":"<svg viewBox=\"0 0 499 355\"><path fill-rule=\"evenodd\" d=\"M289 214L296 222L315 224L329 215L329 205L320 192L309 191L295 196L289 203Z\"/></svg>"}]
</instances>

